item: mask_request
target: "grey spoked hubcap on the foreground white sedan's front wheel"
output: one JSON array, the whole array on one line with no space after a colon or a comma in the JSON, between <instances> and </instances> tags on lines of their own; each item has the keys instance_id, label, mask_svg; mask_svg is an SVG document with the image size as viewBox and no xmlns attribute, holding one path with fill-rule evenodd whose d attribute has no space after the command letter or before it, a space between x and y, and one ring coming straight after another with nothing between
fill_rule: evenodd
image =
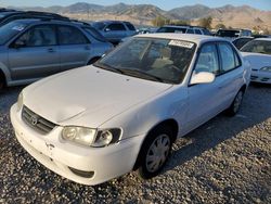
<instances>
[{"instance_id":1,"label":"grey spoked hubcap on the foreground white sedan's front wheel","mask_svg":"<svg viewBox=\"0 0 271 204\"><path fill-rule=\"evenodd\" d=\"M158 136L146 154L146 169L154 173L166 162L170 151L170 139L167 135Z\"/></svg>"}]
</instances>

